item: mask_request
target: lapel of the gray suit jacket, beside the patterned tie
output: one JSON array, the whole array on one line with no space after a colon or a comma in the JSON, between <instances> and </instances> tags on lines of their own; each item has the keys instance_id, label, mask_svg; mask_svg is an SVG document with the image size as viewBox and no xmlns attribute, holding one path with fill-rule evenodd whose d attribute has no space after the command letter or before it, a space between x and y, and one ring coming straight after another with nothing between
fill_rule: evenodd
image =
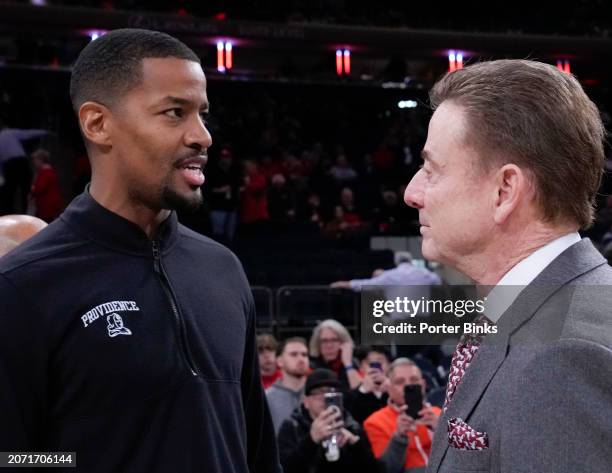
<instances>
[{"instance_id":1,"label":"lapel of the gray suit jacket, beside the patterned tie","mask_svg":"<svg viewBox=\"0 0 612 473\"><path fill-rule=\"evenodd\" d=\"M429 458L428 472L437 472L448 449L447 421L454 417L466 420L484 394L508 352L510 335L528 321L541 305L572 279L605 264L606 260L588 239L572 245L559 255L519 294L502 315L498 333L487 335L466 370L453 400L440 417Z\"/></svg>"}]
</instances>

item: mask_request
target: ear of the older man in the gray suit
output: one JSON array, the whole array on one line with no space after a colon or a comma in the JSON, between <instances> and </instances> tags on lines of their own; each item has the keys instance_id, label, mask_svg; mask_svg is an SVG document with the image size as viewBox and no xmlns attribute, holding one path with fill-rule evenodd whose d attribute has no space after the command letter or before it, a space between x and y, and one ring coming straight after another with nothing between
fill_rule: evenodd
<instances>
[{"instance_id":1,"label":"ear of the older man in the gray suit","mask_svg":"<svg viewBox=\"0 0 612 473\"><path fill-rule=\"evenodd\" d=\"M496 173L495 223L504 223L524 202L529 191L529 179L516 164L505 164Z\"/></svg>"}]
</instances>

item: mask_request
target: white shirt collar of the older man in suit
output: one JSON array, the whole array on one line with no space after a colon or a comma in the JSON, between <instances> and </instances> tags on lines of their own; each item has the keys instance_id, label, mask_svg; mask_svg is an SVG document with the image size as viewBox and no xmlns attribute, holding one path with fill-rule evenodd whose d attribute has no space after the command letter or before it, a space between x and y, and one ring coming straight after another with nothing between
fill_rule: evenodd
<instances>
[{"instance_id":1,"label":"white shirt collar of the older man in suit","mask_svg":"<svg viewBox=\"0 0 612 473\"><path fill-rule=\"evenodd\" d=\"M488 294L484 310L487 318L497 323L525 286L544 271L557 256L579 241L578 232L568 233L538 248L515 264Z\"/></svg>"}]
</instances>

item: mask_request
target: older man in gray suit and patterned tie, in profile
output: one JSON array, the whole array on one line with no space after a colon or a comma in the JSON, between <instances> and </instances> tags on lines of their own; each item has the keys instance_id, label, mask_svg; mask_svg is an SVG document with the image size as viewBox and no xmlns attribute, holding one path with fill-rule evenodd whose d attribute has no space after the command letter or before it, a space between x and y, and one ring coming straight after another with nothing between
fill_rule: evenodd
<instances>
[{"instance_id":1,"label":"older man in gray suit and patterned tie, in profile","mask_svg":"<svg viewBox=\"0 0 612 473\"><path fill-rule=\"evenodd\" d=\"M449 73L430 95L404 196L423 254L511 297L486 314L497 334L457 346L428 471L612 471L612 269L578 234L603 169L597 108L524 60Z\"/></svg>"}]
</instances>

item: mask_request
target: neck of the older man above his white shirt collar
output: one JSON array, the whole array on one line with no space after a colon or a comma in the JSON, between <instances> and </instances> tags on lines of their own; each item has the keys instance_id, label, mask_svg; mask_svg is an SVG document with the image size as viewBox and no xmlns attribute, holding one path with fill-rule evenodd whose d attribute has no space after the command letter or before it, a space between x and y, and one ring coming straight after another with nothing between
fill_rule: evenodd
<instances>
[{"instance_id":1,"label":"neck of the older man above his white shirt collar","mask_svg":"<svg viewBox=\"0 0 612 473\"><path fill-rule=\"evenodd\" d=\"M489 245L459 262L457 269L483 286L494 286L519 262L553 240L577 228L546 227L534 224L521 234L501 234L489 239Z\"/></svg>"}]
</instances>

